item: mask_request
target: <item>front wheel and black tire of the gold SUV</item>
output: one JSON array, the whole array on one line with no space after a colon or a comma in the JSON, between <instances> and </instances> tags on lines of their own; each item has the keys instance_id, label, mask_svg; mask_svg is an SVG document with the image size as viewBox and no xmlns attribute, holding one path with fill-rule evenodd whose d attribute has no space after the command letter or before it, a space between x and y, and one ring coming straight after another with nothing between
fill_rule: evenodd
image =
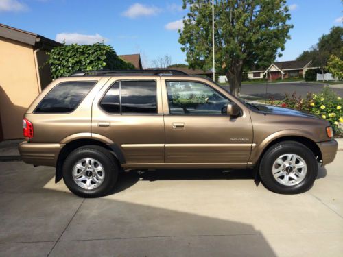
<instances>
[{"instance_id":1,"label":"front wheel and black tire of the gold SUV","mask_svg":"<svg viewBox=\"0 0 343 257\"><path fill-rule=\"evenodd\" d=\"M272 145L265 151L259 165L263 185L274 193L297 194L308 191L317 174L316 156L305 145L295 141Z\"/></svg>"}]
</instances>

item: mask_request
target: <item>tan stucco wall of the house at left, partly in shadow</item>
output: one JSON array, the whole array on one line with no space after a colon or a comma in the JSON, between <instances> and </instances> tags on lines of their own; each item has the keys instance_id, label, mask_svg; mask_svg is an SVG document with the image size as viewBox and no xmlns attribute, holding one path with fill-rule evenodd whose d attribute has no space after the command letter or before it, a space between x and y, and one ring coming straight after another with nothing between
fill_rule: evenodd
<instances>
[{"instance_id":1,"label":"tan stucco wall of the house at left, partly in shadow","mask_svg":"<svg viewBox=\"0 0 343 257\"><path fill-rule=\"evenodd\" d=\"M5 140L23 137L23 114L37 95L34 50L0 37L0 114Z\"/></svg>"}]
</instances>

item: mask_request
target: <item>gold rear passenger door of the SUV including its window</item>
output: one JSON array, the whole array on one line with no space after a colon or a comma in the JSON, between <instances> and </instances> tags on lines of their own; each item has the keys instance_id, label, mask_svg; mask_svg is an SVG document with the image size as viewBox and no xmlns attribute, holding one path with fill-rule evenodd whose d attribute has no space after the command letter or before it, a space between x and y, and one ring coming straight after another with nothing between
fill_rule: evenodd
<instances>
[{"instance_id":1,"label":"gold rear passenger door of the SUV including its window","mask_svg":"<svg viewBox=\"0 0 343 257\"><path fill-rule=\"evenodd\" d=\"M165 131L159 77L113 77L93 102L92 134L109 138L127 164L163 163Z\"/></svg>"}]
</instances>

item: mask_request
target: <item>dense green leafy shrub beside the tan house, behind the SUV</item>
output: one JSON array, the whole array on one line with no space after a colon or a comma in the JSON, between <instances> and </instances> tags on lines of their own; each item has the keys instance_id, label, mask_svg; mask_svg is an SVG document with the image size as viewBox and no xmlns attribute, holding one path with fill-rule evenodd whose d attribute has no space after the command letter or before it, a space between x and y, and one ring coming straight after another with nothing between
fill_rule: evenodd
<instances>
[{"instance_id":1,"label":"dense green leafy shrub beside the tan house, behind the SUV","mask_svg":"<svg viewBox=\"0 0 343 257\"><path fill-rule=\"evenodd\" d=\"M102 69L134 69L133 64L117 56L110 45L62 45L49 53L51 77L69 76L75 71L97 71Z\"/></svg>"}]
</instances>

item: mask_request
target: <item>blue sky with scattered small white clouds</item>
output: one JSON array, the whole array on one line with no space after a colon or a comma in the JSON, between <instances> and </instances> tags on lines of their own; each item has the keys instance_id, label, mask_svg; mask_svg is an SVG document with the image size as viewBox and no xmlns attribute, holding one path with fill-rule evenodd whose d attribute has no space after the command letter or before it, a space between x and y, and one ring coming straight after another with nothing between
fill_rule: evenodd
<instances>
[{"instance_id":1,"label":"blue sky with scattered small white clouds","mask_svg":"<svg viewBox=\"0 0 343 257\"><path fill-rule=\"evenodd\" d=\"M278 61L295 60L333 26L343 25L340 0L292 0L294 28ZM0 23L66 43L104 41L117 54L140 53L145 68L166 54L185 63L178 29L182 0L0 0Z\"/></svg>"}]
</instances>

